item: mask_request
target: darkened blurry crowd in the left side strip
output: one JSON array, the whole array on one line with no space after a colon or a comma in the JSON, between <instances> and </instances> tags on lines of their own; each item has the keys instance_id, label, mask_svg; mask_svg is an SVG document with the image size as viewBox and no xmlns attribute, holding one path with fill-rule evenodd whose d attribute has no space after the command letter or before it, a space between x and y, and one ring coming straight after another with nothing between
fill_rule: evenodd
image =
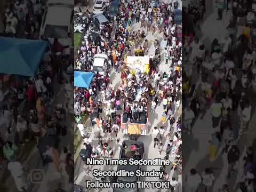
<instances>
[{"instance_id":1,"label":"darkened blurry crowd in the left side strip","mask_svg":"<svg viewBox=\"0 0 256 192\"><path fill-rule=\"evenodd\" d=\"M7 2L5 33L1 36L38 39L44 3L40 0ZM56 170L73 183L74 164L70 163L73 157L67 148L72 149L67 143L64 152L58 148L60 142L66 142L65 135L70 130L65 98L56 100L59 91L56 87L73 86L73 58L62 54L63 49L58 39L54 39L51 51L45 52L34 77L0 75L0 179L3 183L9 181L10 171L18 191L29 190L31 186L26 178L31 169L38 168L27 159L31 157L31 149L38 149L39 162L44 165L53 162Z\"/></svg>"}]
</instances>

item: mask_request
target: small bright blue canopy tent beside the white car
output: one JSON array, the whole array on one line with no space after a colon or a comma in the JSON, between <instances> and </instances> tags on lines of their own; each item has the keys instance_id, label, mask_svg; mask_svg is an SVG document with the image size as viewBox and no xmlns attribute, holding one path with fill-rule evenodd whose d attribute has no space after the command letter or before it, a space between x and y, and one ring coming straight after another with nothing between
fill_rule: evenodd
<instances>
[{"instance_id":1,"label":"small bright blue canopy tent beside the white car","mask_svg":"<svg viewBox=\"0 0 256 192\"><path fill-rule=\"evenodd\" d=\"M76 87L89 88L93 76L94 73L91 72L74 71L74 85Z\"/></svg>"}]
</instances>

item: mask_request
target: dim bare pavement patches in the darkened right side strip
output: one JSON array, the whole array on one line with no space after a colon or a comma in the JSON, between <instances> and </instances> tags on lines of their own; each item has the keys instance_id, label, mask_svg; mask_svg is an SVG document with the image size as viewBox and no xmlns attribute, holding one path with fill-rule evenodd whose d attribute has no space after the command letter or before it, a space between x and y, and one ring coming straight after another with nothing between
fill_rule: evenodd
<instances>
[{"instance_id":1,"label":"dim bare pavement patches in the darkened right side strip","mask_svg":"<svg viewBox=\"0 0 256 192\"><path fill-rule=\"evenodd\" d=\"M212 1L206 1L206 15L205 20L202 22L201 30L196 30L196 36L200 38L200 41L204 43L205 50L209 50L211 46L211 42L214 38L217 38L219 42L221 42L222 38L227 36L227 25L228 21L231 17L231 10L223 12L223 19L217 20L217 9L214 8ZM183 65L184 69L191 68L187 63ZM193 68L193 77L192 84L198 83L197 69ZM255 93L250 89L247 91L247 95L250 99L250 105L252 105L252 116L251 121L249 123L247 135L239 138L236 143L239 147L240 153L243 157L246 147L252 144L253 139L256 138L256 131L254 129L255 125ZM211 114L210 111L206 112L206 115L203 119L198 118L195 122L192 134L188 135L187 133L182 134L182 158L183 158L183 175L189 174L189 170L195 168L199 174L202 174L206 167L211 167L213 170L214 177L216 180L213 184L213 191L217 191L222 185L228 183L231 187L231 191L235 189L237 183L241 181L241 177L243 174L243 165L242 158L239 160L238 164L238 173L237 175L231 176L229 180L227 180L228 174L228 164L227 164L227 156L219 155L214 162L210 161L209 158L209 140L211 139L211 134L214 132L211 126ZM239 118L237 116L236 111L232 112L231 115L231 124L235 130L239 129ZM219 149L221 151L221 149ZM241 169L239 168L241 167ZM183 186L185 186L185 176L182 177ZM187 191L186 188L184 188Z\"/></svg>"}]
</instances>

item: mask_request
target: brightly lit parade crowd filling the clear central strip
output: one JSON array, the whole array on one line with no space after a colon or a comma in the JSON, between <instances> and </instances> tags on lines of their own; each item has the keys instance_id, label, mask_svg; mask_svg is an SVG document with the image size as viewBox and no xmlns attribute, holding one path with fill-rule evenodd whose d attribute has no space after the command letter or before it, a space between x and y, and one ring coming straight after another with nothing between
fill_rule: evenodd
<instances>
[{"instance_id":1,"label":"brightly lit parade crowd filling the clear central strip","mask_svg":"<svg viewBox=\"0 0 256 192\"><path fill-rule=\"evenodd\" d=\"M118 133L127 134L131 123L147 124L148 113L162 103L163 126L152 127L155 147L162 155L167 138L164 158L169 158L173 151L181 154L181 120L177 117L182 87L181 23L174 22L173 10L173 3L121 1L117 17L99 29L91 24L89 11L81 15L89 18L89 25L77 49L76 70L91 71L93 57L98 53L107 54L109 60L105 73L95 72L88 89L76 87L74 92L77 127L84 139L84 148L90 149L91 157L113 157L115 149L110 147L108 139L99 139L98 146L93 145L83 124L85 115L90 116L97 137L105 138L107 134L107 138L117 138L117 144L121 146L123 138L119 138ZM139 25L139 28L133 29L134 25ZM157 34L162 34L163 39L159 39ZM153 41L147 36L152 36ZM153 51L150 51L151 43ZM148 70L126 65L127 57L145 55L149 57ZM169 70L161 71L161 63ZM119 85L110 81L111 73L121 76ZM170 131L167 131L167 126ZM172 169L178 167L181 172L181 158L177 156L172 161ZM166 171L165 167L161 170ZM164 175L167 180L167 172ZM177 181L174 178L172 181L175 186Z\"/></svg>"}]
</instances>

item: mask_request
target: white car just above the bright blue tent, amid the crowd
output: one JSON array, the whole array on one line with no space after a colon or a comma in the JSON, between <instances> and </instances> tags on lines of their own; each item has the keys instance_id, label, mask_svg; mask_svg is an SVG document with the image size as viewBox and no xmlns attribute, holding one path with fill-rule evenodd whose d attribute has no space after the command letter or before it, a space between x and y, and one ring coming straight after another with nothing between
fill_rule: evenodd
<instances>
[{"instance_id":1,"label":"white car just above the bright blue tent, amid the crowd","mask_svg":"<svg viewBox=\"0 0 256 192\"><path fill-rule=\"evenodd\" d=\"M108 55L106 54L95 54L93 61L92 61L92 67L91 71L95 74L98 72L100 75L105 74L105 70L108 66Z\"/></svg>"}]
</instances>

